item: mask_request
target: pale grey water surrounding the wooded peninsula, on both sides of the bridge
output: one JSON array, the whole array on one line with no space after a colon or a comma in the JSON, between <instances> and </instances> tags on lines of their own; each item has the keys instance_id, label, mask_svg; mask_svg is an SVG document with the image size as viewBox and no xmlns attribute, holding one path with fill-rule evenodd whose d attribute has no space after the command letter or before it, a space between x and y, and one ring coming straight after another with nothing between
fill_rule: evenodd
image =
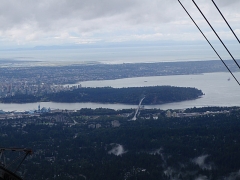
<instances>
[{"instance_id":1,"label":"pale grey water surrounding the wooded peninsula, on both sides of the bridge","mask_svg":"<svg viewBox=\"0 0 240 180\"><path fill-rule=\"evenodd\" d=\"M235 73L240 78L240 73ZM229 80L230 78L230 80ZM239 79L238 78L238 79ZM178 75L178 76L152 76L126 78L118 80L104 81L85 81L79 82L82 87L142 87L142 86L179 86L179 87L196 87L205 94L199 99L168 103L162 105L145 105L145 108L160 109L185 109L191 107L204 106L240 106L240 86L234 81L229 73L206 73L198 75ZM128 109L137 108L136 105L125 104L103 104L103 103L27 103L27 104L0 104L0 109L4 111L24 111L37 109L38 105L51 109L69 109L78 110L81 108L112 108ZM144 101L143 101L144 104Z\"/></svg>"}]
</instances>

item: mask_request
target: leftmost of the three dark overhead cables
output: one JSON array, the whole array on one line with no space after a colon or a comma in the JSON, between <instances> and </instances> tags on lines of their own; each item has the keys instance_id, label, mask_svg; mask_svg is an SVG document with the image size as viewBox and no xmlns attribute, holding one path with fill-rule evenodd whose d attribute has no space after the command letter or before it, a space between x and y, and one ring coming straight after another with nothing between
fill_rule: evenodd
<instances>
[{"instance_id":1,"label":"leftmost of the three dark overhead cables","mask_svg":"<svg viewBox=\"0 0 240 180\"><path fill-rule=\"evenodd\" d=\"M207 39L207 37L205 36L205 34L203 33L203 31L200 29L200 27L197 25L197 23L194 21L194 19L192 18L192 16L188 13L187 9L183 6L183 4L181 3L180 0L178 0L178 2L180 3L180 5L183 7L183 9L186 11L186 13L188 14L188 16L190 17L190 19L193 21L193 23L196 25L196 27L198 28L198 30L201 32L201 34L203 35L203 37L206 39L206 41L208 42L208 44L212 47L212 49L214 50L214 52L217 54L217 56L219 57L219 59L222 61L222 63L224 64L224 66L227 68L227 70L230 72L230 74L232 75L232 77L235 79L235 81L238 83L238 85L240 85L239 81L237 80L237 78L234 76L234 74L232 73L232 71L228 68L228 66L226 65L226 63L223 61L223 59L221 58L221 56L218 54L218 52L216 51L216 49L213 47L213 45L211 44L211 42Z\"/></svg>"}]
</instances>

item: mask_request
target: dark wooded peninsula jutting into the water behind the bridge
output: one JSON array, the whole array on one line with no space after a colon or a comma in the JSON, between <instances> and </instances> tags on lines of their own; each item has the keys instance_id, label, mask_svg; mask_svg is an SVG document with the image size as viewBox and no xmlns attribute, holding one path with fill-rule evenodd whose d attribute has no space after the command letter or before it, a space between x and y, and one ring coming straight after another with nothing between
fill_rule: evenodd
<instances>
[{"instance_id":1,"label":"dark wooded peninsula jutting into the water behind the bridge","mask_svg":"<svg viewBox=\"0 0 240 180\"><path fill-rule=\"evenodd\" d=\"M142 104L162 104L199 98L203 93L196 88L153 86L129 88L80 88L45 95L22 95L0 99L2 103L29 103L40 101L52 102L100 102L138 104L145 97Z\"/></svg>"}]
</instances>

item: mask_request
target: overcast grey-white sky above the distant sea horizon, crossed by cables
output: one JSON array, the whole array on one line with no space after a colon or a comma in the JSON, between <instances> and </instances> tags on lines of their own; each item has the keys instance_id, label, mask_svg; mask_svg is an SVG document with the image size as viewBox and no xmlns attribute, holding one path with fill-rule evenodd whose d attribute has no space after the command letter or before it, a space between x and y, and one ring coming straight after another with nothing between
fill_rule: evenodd
<instances>
[{"instance_id":1,"label":"overcast grey-white sky above the distant sea horizon, crossed by cables","mask_svg":"<svg viewBox=\"0 0 240 180\"><path fill-rule=\"evenodd\" d=\"M0 0L0 49L51 45L198 42L177 0ZM211 0L196 0L223 40L234 41ZM191 0L182 0L211 40ZM240 1L215 0L240 36Z\"/></svg>"}]
</instances>

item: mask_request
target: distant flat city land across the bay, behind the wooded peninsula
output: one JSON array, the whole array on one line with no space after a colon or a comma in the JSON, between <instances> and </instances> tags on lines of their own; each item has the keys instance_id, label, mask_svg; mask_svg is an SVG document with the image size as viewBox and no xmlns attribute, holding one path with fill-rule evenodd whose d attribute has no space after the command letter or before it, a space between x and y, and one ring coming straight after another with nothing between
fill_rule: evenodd
<instances>
[{"instance_id":1,"label":"distant flat city land across the bay, behind the wooded peninsula","mask_svg":"<svg viewBox=\"0 0 240 180\"><path fill-rule=\"evenodd\" d=\"M9 61L9 60L8 60ZM190 75L227 72L221 61L159 62L137 64L74 64L65 66L4 66L0 61L0 97L17 94L39 95L69 91L82 81L113 80L132 77ZM12 62L13 63L13 62ZM18 61L20 64L21 61ZM233 61L225 61L234 72Z\"/></svg>"}]
</instances>

